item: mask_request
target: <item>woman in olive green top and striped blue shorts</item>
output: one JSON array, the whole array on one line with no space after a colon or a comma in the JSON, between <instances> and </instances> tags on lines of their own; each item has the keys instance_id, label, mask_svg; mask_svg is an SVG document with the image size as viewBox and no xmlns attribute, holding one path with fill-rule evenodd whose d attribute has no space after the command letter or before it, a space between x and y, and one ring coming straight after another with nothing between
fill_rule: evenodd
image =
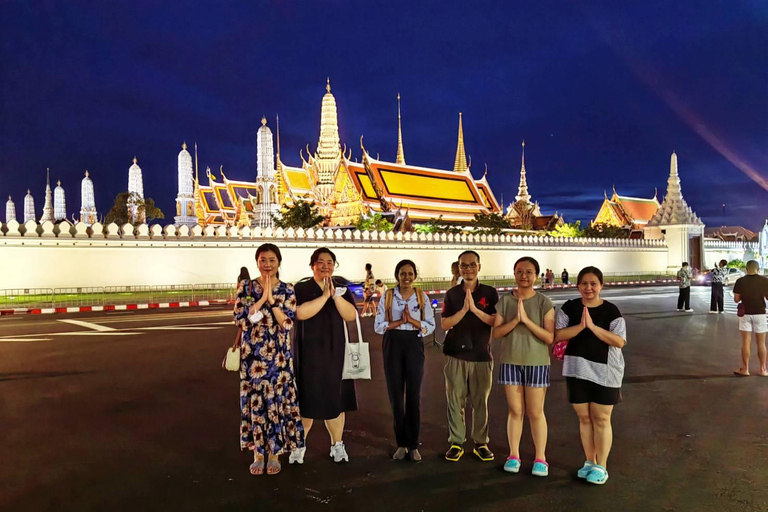
<instances>
[{"instance_id":1,"label":"woman in olive green top and striped blue shorts","mask_svg":"<svg viewBox=\"0 0 768 512\"><path fill-rule=\"evenodd\" d=\"M533 289L539 270L539 263L529 256L515 262L517 289L503 296L496 305L492 334L501 340L499 384L504 386L509 408L509 457L504 471L520 471L520 437L523 416L527 414L536 447L531 473L547 476L544 397L549 387L549 345L555 339L555 308L547 296Z\"/></svg>"}]
</instances>

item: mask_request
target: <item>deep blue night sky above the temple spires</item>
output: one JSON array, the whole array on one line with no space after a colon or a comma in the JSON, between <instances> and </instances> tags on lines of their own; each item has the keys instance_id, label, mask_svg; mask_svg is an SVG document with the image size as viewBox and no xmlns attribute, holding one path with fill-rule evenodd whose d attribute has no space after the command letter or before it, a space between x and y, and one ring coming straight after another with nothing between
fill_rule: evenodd
<instances>
[{"instance_id":1,"label":"deep blue night sky above the temple spires","mask_svg":"<svg viewBox=\"0 0 768 512\"><path fill-rule=\"evenodd\" d=\"M161 5L162 4L162 5ZM634 4L627 7L626 4ZM651 197L679 157L710 226L768 217L768 4L644 2L0 3L0 195L17 214L45 168L80 208L127 189L175 213L176 158L255 177L255 133L280 115L282 159L314 150L331 77L343 143L394 160L396 95L409 164L451 168L458 112L480 177L509 202L520 142L545 213L586 221L603 190ZM751 177L748 174L751 173ZM762 185L760 184L762 180ZM3 200L4 202L4 200ZM725 215L722 204L725 203Z\"/></svg>"}]
</instances>

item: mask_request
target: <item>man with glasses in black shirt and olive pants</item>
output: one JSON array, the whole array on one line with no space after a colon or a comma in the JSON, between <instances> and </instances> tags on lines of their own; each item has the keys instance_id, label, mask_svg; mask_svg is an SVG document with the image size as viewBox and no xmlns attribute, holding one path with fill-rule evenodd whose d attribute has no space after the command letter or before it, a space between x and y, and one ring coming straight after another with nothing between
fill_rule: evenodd
<instances>
[{"instance_id":1,"label":"man with glasses in black shirt and olive pants","mask_svg":"<svg viewBox=\"0 0 768 512\"><path fill-rule=\"evenodd\" d=\"M464 404L472 402L473 453L482 461L493 460L488 449L488 396L493 381L493 358L489 348L491 326L496 319L499 294L492 286L477 280L480 255L464 251L459 255L463 282L445 294L440 325L447 332L443 352L447 362L445 389L448 401L448 442L446 460L458 461L464 455L466 440Z\"/></svg>"}]
</instances>

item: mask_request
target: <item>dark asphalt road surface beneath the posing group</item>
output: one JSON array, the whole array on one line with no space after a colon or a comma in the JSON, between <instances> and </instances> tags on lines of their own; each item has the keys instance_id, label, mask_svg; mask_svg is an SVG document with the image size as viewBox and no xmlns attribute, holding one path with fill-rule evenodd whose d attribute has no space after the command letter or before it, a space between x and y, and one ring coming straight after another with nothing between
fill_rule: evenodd
<instances>
[{"instance_id":1,"label":"dark asphalt road surface beneath the posing group","mask_svg":"<svg viewBox=\"0 0 768 512\"><path fill-rule=\"evenodd\" d=\"M328 458L320 427L303 466L253 477L238 445L237 377L219 367L234 336L231 313L205 308L0 318L0 510L768 510L768 379L731 375L735 315L707 314L708 288L694 288L693 314L675 311L674 288L604 293L627 318L629 344L603 487L575 477L583 455L561 377L546 405L548 478L501 471L497 386L497 461L442 460L444 357L434 347L425 460L388 460L391 415L371 319L363 322L374 375L358 383L360 410L347 422L351 462ZM575 295L551 293L556 302ZM522 448L530 471L527 427Z\"/></svg>"}]
</instances>

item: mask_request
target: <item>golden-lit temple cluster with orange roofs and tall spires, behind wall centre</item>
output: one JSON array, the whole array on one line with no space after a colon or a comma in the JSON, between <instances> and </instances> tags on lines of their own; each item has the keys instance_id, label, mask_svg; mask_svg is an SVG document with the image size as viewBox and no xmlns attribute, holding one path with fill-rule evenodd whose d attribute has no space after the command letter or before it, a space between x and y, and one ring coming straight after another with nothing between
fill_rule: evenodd
<instances>
[{"instance_id":1,"label":"golden-lit temple cluster with orange roofs and tall spires, behind wall centre","mask_svg":"<svg viewBox=\"0 0 768 512\"><path fill-rule=\"evenodd\" d=\"M465 224L471 223L477 213L501 213L486 176L474 179L467 164L461 114L452 170L405 163L399 95L395 162L373 158L362 137L362 159L352 161L351 148L340 143L330 81L322 99L317 149L311 153L307 146L306 158L303 150L299 152L301 166L283 163L279 126L276 135L275 154L272 133L262 120L257 134L256 182L232 181L223 172L219 181L210 170L207 186L196 182L195 212L201 224L267 225L280 205L297 200L315 202L327 226L350 226L362 216L375 213L395 216L398 210L415 222L442 216L446 222Z\"/></svg>"}]
</instances>

